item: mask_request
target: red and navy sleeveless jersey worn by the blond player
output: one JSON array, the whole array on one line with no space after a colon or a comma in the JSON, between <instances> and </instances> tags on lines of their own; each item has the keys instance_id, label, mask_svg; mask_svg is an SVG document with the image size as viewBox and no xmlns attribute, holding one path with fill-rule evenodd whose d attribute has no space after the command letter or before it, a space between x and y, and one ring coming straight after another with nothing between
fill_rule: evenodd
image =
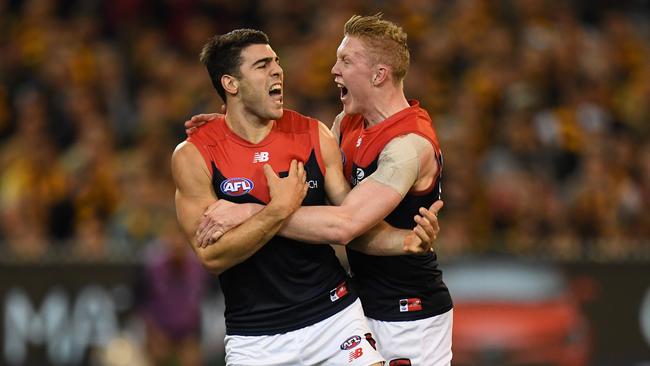
<instances>
[{"instance_id":1,"label":"red and navy sleeveless jersey worn by the blond player","mask_svg":"<svg viewBox=\"0 0 650 366\"><path fill-rule=\"evenodd\" d=\"M442 170L442 154L429 114L417 101L385 121L366 128L362 115L346 115L341 121L340 145L344 173L354 187L377 170L379 155L398 136L418 134L433 145ZM428 189L408 192L386 222L401 228L415 226L419 207L440 199L440 173ZM348 249L354 274L353 285L367 317L383 321L417 320L442 314L452 308L434 253L426 255L372 256Z\"/></svg>"}]
</instances>

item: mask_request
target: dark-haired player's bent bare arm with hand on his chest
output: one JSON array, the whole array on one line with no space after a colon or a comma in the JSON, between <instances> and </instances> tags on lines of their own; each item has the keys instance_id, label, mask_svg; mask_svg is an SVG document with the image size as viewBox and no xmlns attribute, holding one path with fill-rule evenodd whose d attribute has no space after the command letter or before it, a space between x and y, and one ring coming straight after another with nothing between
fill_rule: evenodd
<instances>
[{"instance_id":1,"label":"dark-haired player's bent bare arm with hand on his chest","mask_svg":"<svg viewBox=\"0 0 650 366\"><path fill-rule=\"evenodd\" d=\"M285 179L278 178L268 165L264 169L271 192L269 204L221 236L217 245L199 248L195 232L203 212L216 197L210 174L197 148L183 142L174 151L172 173L176 183L176 215L194 252L210 272L221 274L252 256L278 232L284 220L302 202L307 192L302 166L293 161Z\"/></svg>"}]
</instances>

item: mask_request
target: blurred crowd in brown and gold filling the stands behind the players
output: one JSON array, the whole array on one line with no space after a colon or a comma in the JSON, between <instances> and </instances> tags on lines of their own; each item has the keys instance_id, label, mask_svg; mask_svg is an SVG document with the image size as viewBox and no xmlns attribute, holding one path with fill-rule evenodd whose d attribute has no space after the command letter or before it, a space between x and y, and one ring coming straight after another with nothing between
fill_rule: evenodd
<instances>
[{"instance_id":1,"label":"blurred crowd in brown and gold filling the stands behind the players","mask_svg":"<svg viewBox=\"0 0 650 366\"><path fill-rule=\"evenodd\" d=\"M343 24L380 11L444 151L439 251L650 259L642 0L0 0L2 253L140 255L176 225L183 122L222 103L207 39L265 31L285 106L330 124Z\"/></svg>"}]
</instances>

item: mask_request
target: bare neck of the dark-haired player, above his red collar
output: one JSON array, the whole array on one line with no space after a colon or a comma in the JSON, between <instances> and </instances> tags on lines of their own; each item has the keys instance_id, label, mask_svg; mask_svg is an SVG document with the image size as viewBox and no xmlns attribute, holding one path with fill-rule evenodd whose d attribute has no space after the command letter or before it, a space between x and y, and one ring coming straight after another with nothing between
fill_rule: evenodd
<instances>
[{"instance_id":1,"label":"bare neck of the dark-haired player, above his red collar","mask_svg":"<svg viewBox=\"0 0 650 366\"><path fill-rule=\"evenodd\" d=\"M226 111L226 124L235 135L257 144L264 140L273 129L273 120L262 119L247 111L242 105L232 103Z\"/></svg>"}]
</instances>

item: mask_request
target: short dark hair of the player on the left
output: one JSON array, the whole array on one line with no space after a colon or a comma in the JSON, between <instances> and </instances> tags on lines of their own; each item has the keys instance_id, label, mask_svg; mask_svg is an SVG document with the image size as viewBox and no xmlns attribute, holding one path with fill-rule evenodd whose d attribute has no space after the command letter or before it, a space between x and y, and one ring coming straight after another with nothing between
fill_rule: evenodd
<instances>
[{"instance_id":1,"label":"short dark hair of the player on the left","mask_svg":"<svg viewBox=\"0 0 650 366\"><path fill-rule=\"evenodd\" d=\"M255 29L235 29L212 37L201 50L201 62L208 69L212 85L226 102L226 91L221 85L223 75L241 76L241 51L253 44L269 44L269 37Z\"/></svg>"}]
</instances>

